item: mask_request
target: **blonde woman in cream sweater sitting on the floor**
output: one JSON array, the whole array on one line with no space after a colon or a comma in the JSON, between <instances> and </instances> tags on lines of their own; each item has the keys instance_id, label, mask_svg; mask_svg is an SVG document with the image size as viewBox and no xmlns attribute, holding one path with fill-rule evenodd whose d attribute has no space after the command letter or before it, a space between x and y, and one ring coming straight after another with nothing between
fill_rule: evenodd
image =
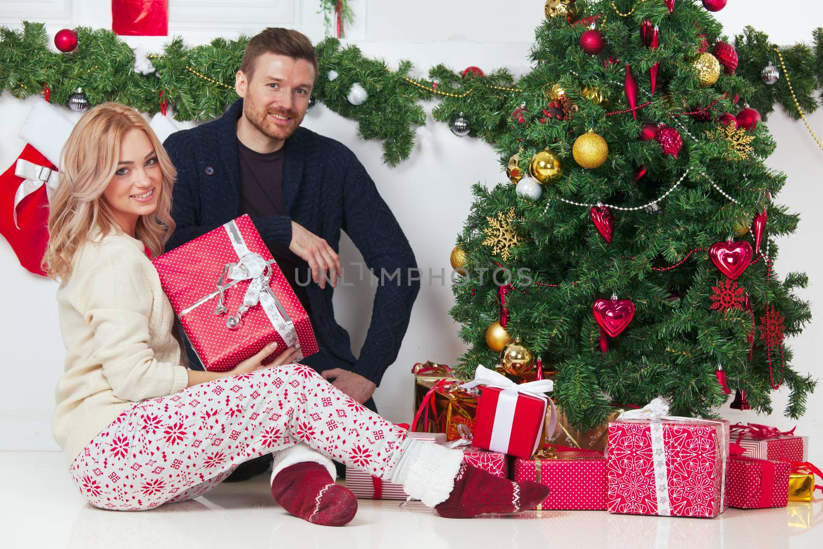
<instances>
[{"instance_id":1,"label":"blonde woman in cream sweater sitting on the floor","mask_svg":"<svg viewBox=\"0 0 823 549\"><path fill-rule=\"evenodd\" d=\"M263 366L269 346L224 373L181 365L174 311L149 260L174 230L175 176L140 114L116 103L84 114L63 148L44 257L61 282L67 348L53 433L91 505L139 510L188 500L267 453L275 454L275 500L312 523L342 525L357 508L333 482L328 456L402 483L446 517L516 512L545 499L545 486L494 477L465 465L459 450L408 439L291 364L294 348ZM311 458L309 447L323 456Z\"/></svg>"}]
</instances>

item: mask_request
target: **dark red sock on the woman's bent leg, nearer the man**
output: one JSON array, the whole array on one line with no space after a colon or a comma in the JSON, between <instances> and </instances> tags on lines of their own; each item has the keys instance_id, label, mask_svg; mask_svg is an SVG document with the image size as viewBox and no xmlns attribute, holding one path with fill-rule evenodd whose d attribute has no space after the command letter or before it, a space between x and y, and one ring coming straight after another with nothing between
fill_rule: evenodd
<instances>
[{"instance_id":1,"label":"dark red sock on the woman's bent leg, nearer the man","mask_svg":"<svg viewBox=\"0 0 823 549\"><path fill-rule=\"evenodd\" d=\"M323 526L342 526L357 512L355 495L314 462L295 463L278 472L272 496L289 513Z\"/></svg>"}]
</instances>

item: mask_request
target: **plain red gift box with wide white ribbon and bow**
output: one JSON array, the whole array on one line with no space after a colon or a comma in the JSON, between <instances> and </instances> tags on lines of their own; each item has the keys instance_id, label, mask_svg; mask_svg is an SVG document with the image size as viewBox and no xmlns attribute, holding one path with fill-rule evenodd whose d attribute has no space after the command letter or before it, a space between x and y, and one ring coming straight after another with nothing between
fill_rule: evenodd
<instances>
[{"instance_id":1,"label":"plain red gift box with wide white ribbon and bow","mask_svg":"<svg viewBox=\"0 0 823 549\"><path fill-rule=\"evenodd\" d=\"M541 441L546 407L551 405L548 436L554 433L556 424L555 404L546 397L554 388L551 379L539 379L525 384L515 384L506 376L477 366L474 380L461 385L474 388L485 385L477 400L472 444L501 454L518 458L531 458Z\"/></svg>"}]
</instances>

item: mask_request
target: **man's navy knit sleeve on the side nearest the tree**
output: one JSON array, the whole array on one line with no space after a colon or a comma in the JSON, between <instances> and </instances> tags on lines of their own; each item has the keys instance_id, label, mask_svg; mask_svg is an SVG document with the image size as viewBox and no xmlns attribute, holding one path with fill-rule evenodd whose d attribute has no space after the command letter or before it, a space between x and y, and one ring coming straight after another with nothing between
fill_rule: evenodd
<instances>
[{"instance_id":1,"label":"man's navy knit sleeve on the side nearest the tree","mask_svg":"<svg viewBox=\"0 0 823 549\"><path fill-rule=\"evenodd\" d=\"M415 274L412 246L398 221L363 165L348 152L342 230L351 237L379 282L369 331L352 371L379 385L386 368L398 357L420 291L420 277Z\"/></svg>"}]
</instances>

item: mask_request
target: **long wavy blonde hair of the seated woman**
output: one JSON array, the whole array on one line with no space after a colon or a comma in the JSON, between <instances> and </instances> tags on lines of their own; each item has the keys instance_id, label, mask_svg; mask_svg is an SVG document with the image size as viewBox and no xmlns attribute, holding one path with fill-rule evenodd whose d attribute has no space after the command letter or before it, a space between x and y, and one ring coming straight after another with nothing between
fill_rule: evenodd
<instances>
[{"instance_id":1,"label":"long wavy blonde hair of the seated woman","mask_svg":"<svg viewBox=\"0 0 823 549\"><path fill-rule=\"evenodd\" d=\"M103 192L118 170L120 142L135 128L146 132L162 173L162 184L156 189L156 210L137 219L135 238L146 244L152 258L163 253L165 241L174 230L171 188L177 170L151 126L136 110L119 103L103 103L83 114L63 146L60 184L49 203L49 245L43 257L49 277L65 280L71 276L77 252L91 239L95 228L104 236L122 232Z\"/></svg>"}]
</instances>

